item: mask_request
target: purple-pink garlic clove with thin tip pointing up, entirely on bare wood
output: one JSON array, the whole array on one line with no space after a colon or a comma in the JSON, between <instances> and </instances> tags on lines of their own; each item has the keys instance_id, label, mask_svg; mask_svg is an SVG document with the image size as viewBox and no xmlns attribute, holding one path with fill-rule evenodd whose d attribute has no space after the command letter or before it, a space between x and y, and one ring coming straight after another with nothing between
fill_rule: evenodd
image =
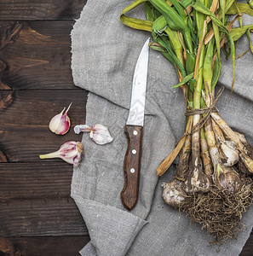
<instances>
[{"instance_id":1,"label":"purple-pink garlic clove with thin tip pointing up, entirely on bare wood","mask_svg":"<svg viewBox=\"0 0 253 256\"><path fill-rule=\"evenodd\" d=\"M64 135L66 134L67 131L69 131L70 126L71 126L71 121L69 119L69 117L67 116L67 112L69 110L69 108L71 107L72 103L70 103L70 105L68 106L68 108L66 109L66 112L64 112L65 108L63 108L63 110L56 114L49 123L49 129L50 131L55 132L55 134L58 135Z\"/></svg>"}]
</instances>

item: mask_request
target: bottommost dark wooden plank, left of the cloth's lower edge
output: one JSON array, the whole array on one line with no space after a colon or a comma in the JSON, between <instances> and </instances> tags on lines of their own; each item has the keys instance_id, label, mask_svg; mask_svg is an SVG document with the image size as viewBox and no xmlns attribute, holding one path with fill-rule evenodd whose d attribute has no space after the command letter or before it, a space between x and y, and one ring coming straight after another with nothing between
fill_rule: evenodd
<instances>
[{"instance_id":1,"label":"bottommost dark wooden plank, left of the cloth's lower edge","mask_svg":"<svg viewBox=\"0 0 253 256\"><path fill-rule=\"evenodd\" d=\"M13 252L15 256L80 256L78 252L88 242L89 236L0 238L0 252Z\"/></svg>"}]
</instances>

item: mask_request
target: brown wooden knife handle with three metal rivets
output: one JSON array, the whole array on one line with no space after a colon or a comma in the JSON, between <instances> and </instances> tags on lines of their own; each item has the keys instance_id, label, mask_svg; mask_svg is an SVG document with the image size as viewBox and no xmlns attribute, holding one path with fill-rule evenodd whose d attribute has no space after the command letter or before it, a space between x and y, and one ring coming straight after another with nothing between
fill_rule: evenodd
<instances>
[{"instance_id":1,"label":"brown wooden knife handle with three metal rivets","mask_svg":"<svg viewBox=\"0 0 253 256\"><path fill-rule=\"evenodd\" d=\"M139 194L142 126L125 125L128 148L124 157L124 188L121 201L129 211L135 207Z\"/></svg>"}]
</instances>

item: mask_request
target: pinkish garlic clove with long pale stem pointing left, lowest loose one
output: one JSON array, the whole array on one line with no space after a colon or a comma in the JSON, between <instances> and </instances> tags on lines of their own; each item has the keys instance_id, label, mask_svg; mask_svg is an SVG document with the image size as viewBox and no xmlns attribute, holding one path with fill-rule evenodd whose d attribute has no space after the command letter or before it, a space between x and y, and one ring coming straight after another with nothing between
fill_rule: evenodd
<instances>
[{"instance_id":1,"label":"pinkish garlic clove with long pale stem pointing left, lowest loose one","mask_svg":"<svg viewBox=\"0 0 253 256\"><path fill-rule=\"evenodd\" d=\"M67 163L78 167L83 158L83 144L80 142L66 142L60 146L60 149L49 154L39 155L40 159L60 158Z\"/></svg>"}]
</instances>

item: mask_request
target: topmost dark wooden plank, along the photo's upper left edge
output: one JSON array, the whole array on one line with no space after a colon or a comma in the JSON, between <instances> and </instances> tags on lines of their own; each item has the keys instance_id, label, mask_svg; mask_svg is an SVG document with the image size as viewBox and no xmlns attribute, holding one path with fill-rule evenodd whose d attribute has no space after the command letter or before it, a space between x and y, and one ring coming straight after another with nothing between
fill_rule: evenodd
<instances>
[{"instance_id":1,"label":"topmost dark wooden plank, along the photo's upper left edge","mask_svg":"<svg viewBox=\"0 0 253 256\"><path fill-rule=\"evenodd\" d=\"M1 20L78 19L87 0L1 0Z\"/></svg>"}]
</instances>

